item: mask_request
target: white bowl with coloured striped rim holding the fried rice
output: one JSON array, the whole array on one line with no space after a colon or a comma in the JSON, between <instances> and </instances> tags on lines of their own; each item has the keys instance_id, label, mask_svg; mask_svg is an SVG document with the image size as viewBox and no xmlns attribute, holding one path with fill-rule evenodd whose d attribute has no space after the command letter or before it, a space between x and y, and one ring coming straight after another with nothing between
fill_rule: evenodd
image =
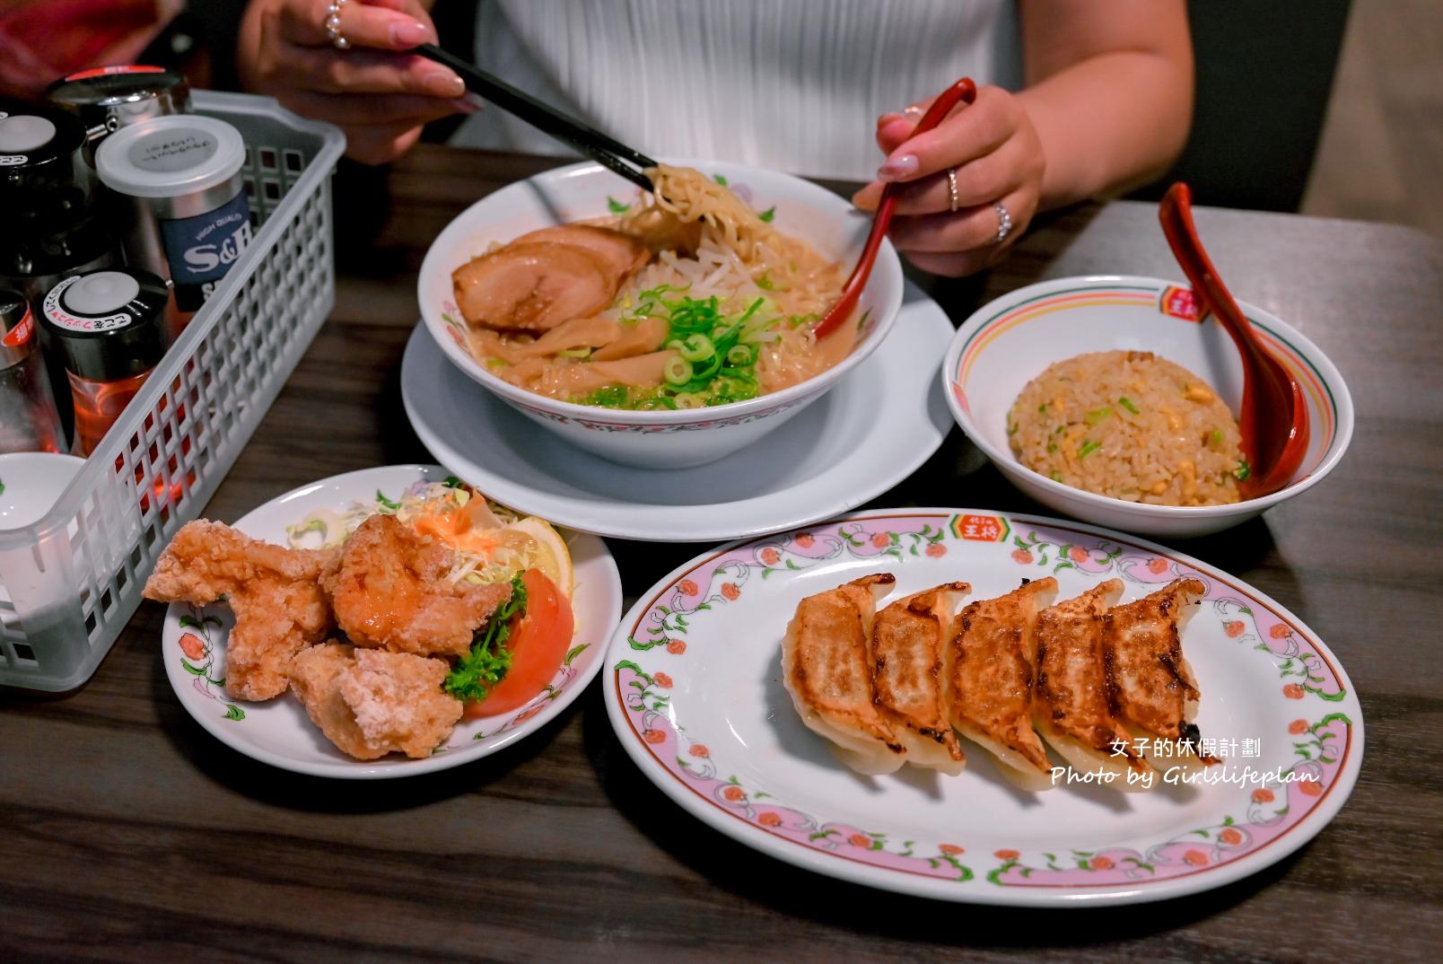
<instances>
[{"instance_id":1,"label":"white bowl with coloured striped rim holding the fried rice","mask_svg":"<svg viewBox=\"0 0 1443 964\"><path fill-rule=\"evenodd\" d=\"M1216 533L1317 485L1342 459L1354 430L1352 398L1338 368L1297 329L1240 302L1267 348L1297 378L1309 444L1284 488L1228 505L1150 505L1076 489L1023 465L1007 417L1023 387L1053 364L1087 352L1146 351L1206 381L1237 417L1242 361L1227 330L1199 317L1182 281L1136 276L1058 279L1017 289L977 310L952 338L942 387L952 417L1019 489L1097 525L1162 537Z\"/></svg>"}]
</instances>

